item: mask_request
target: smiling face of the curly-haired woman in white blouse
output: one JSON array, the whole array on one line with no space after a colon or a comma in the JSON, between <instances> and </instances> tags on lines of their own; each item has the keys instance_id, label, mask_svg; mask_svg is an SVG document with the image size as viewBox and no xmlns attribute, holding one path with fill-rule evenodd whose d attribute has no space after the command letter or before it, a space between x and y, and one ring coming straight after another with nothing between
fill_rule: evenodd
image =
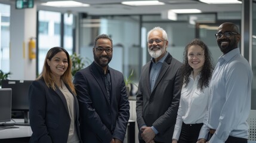
<instances>
[{"instance_id":1,"label":"smiling face of the curly-haired woman in white blouse","mask_svg":"<svg viewBox=\"0 0 256 143\"><path fill-rule=\"evenodd\" d=\"M199 73L202 70L203 64L205 63L203 52L203 48L199 45L189 46L187 50L189 66L192 67L193 71L196 73Z\"/></svg>"}]
</instances>

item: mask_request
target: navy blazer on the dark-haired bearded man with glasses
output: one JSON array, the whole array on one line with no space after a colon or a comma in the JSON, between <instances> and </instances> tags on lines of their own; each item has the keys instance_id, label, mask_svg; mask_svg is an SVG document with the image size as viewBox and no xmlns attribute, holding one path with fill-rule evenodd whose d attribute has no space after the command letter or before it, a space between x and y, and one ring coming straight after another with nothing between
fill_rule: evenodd
<instances>
[{"instance_id":1,"label":"navy blazer on the dark-haired bearded man with glasses","mask_svg":"<svg viewBox=\"0 0 256 143\"><path fill-rule=\"evenodd\" d=\"M110 102L107 98L103 73L95 61L75 74L83 142L106 142L112 138L124 141L129 120L129 101L120 71L109 67L112 83Z\"/></svg>"}]
</instances>

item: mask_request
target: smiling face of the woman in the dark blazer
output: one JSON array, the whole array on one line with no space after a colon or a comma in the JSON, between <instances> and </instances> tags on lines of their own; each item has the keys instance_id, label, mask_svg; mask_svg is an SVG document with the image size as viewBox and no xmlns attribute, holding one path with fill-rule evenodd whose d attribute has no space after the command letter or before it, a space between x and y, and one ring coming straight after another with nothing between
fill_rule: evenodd
<instances>
[{"instance_id":1,"label":"smiling face of the woman in the dark blazer","mask_svg":"<svg viewBox=\"0 0 256 143\"><path fill-rule=\"evenodd\" d=\"M56 78L60 78L69 66L67 62L67 55L64 51L60 51L55 54L51 60L48 59L47 64L50 67L51 74Z\"/></svg>"}]
</instances>

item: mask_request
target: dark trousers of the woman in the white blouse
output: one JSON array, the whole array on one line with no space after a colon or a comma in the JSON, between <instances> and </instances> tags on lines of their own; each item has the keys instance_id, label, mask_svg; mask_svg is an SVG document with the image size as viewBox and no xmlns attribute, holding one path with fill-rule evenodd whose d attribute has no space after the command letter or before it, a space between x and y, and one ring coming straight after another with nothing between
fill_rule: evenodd
<instances>
[{"instance_id":1,"label":"dark trousers of the woman in the white blouse","mask_svg":"<svg viewBox=\"0 0 256 143\"><path fill-rule=\"evenodd\" d=\"M185 124L182 123L180 138L178 143L195 143L198 141L199 132L203 123L199 124Z\"/></svg>"}]
</instances>

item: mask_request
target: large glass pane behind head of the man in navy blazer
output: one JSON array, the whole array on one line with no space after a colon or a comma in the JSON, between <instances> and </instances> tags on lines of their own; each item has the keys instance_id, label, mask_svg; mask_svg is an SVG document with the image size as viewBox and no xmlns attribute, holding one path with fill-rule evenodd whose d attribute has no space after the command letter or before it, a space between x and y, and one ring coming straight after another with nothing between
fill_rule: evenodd
<instances>
[{"instance_id":1,"label":"large glass pane behind head of the man in navy blazer","mask_svg":"<svg viewBox=\"0 0 256 143\"><path fill-rule=\"evenodd\" d=\"M94 16L81 18L79 23L80 55L84 59L89 59L88 63L91 63L94 60L94 38L103 33L107 34L113 39L113 57L109 66L127 77L133 69L132 79L137 83L141 69L140 16Z\"/></svg>"}]
</instances>

